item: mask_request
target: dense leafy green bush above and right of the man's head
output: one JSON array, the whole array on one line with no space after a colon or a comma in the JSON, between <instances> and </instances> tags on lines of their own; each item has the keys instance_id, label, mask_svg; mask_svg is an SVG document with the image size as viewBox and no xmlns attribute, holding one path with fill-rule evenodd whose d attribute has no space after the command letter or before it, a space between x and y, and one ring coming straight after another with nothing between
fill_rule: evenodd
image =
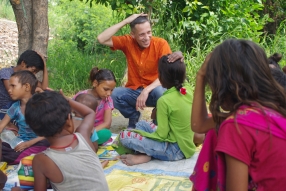
<instances>
[{"instance_id":1,"label":"dense leafy green bush above and right of the man's head","mask_svg":"<svg viewBox=\"0 0 286 191\"><path fill-rule=\"evenodd\" d=\"M154 35L161 36L172 48L189 51L200 43L212 46L229 37L260 42L268 31L265 26L277 15L285 15L281 0L86 0L89 3L110 4L123 15L148 13L156 20ZM267 4L268 3L268 4ZM268 8L266 11L266 7ZM280 9L278 10L278 7ZM274 11L277 14L272 14ZM269 17L269 14L271 18ZM279 21L281 22L281 21Z\"/></svg>"}]
</instances>

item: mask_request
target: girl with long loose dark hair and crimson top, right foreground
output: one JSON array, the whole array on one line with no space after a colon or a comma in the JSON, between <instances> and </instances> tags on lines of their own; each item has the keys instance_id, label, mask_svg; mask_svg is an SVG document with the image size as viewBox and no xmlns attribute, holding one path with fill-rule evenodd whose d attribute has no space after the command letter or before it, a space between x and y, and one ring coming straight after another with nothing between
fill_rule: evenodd
<instances>
[{"instance_id":1,"label":"girl with long loose dark hair and crimson top, right foreground","mask_svg":"<svg viewBox=\"0 0 286 191\"><path fill-rule=\"evenodd\" d=\"M209 120L206 83L212 91ZM201 189L194 184L194 190L286 189L286 153L281 152L286 149L286 92L271 75L261 47L235 39L218 45L197 74L194 103L198 113L192 116L193 130L217 127L218 131L217 171L211 169L210 161L203 168L205 174L213 175L209 179L216 178L216 184Z\"/></svg>"}]
</instances>

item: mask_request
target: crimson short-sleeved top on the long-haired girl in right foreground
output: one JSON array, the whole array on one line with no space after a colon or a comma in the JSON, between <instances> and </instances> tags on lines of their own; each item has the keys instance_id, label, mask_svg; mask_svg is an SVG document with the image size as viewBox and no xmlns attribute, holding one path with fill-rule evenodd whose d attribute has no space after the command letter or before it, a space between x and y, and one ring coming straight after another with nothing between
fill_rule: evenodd
<instances>
[{"instance_id":1,"label":"crimson short-sleeved top on the long-haired girl in right foreground","mask_svg":"<svg viewBox=\"0 0 286 191\"><path fill-rule=\"evenodd\" d=\"M249 175L257 191L286 190L285 150L285 139L246 125L236 126L234 122L221 125L216 147L216 151L248 165Z\"/></svg>"}]
</instances>

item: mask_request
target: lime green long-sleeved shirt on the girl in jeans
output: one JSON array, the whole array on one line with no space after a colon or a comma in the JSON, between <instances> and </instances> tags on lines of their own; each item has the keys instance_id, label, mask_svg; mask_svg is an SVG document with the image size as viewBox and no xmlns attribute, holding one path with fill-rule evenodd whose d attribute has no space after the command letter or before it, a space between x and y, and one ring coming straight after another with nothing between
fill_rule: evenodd
<instances>
[{"instance_id":1,"label":"lime green long-sleeved shirt on the girl in jeans","mask_svg":"<svg viewBox=\"0 0 286 191\"><path fill-rule=\"evenodd\" d=\"M158 128L153 133L134 130L138 134L161 142L178 143L186 158L196 151L191 130L192 89L184 84L187 94L181 94L175 87L164 92L157 101Z\"/></svg>"}]
</instances>

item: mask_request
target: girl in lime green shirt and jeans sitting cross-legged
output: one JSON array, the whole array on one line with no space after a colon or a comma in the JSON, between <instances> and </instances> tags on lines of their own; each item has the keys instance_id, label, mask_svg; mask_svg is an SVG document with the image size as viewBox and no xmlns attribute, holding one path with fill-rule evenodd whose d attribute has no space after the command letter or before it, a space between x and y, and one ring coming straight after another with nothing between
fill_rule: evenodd
<instances>
[{"instance_id":1,"label":"girl in lime green shirt and jeans sitting cross-legged","mask_svg":"<svg viewBox=\"0 0 286 191\"><path fill-rule=\"evenodd\" d=\"M196 146L193 142L190 116L192 91L186 79L186 65L180 60L169 62L163 56L158 65L159 80L167 91L157 102L158 126L139 121L134 130L120 133L120 142L140 154L121 155L126 165L146 163L151 158L176 161L193 156Z\"/></svg>"}]
</instances>

